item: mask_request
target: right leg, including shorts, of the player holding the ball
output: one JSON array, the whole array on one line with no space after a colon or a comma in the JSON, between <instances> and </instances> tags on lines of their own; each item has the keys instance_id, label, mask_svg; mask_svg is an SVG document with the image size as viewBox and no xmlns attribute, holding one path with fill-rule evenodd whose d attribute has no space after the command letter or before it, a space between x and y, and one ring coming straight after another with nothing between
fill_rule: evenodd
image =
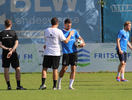
<instances>
[{"instance_id":1,"label":"right leg, including shorts, of the player holding the ball","mask_svg":"<svg viewBox=\"0 0 132 100\"><path fill-rule=\"evenodd\" d=\"M70 83L69 83L69 89L74 89L72 87L74 79L75 79L75 73L76 73L76 66L77 66L77 53L70 54L70 64L71 64L71 74L70 74Z\"/></svg>"}]
</instances>

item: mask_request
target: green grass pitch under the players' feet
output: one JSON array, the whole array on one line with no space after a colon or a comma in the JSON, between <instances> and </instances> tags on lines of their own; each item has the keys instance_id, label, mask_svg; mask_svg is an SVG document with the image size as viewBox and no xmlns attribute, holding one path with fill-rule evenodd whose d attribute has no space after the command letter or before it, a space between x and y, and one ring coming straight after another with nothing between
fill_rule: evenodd
<instances>
[{"instance_id":1,"label":"green grass pitch under the players' feet","mask_svg":"<svg viewBox=\"0 0 132 100\"><path fill-rule=\"evenodd\" d=\"M69 73L62 79L62 89L52 90L52 74L46 79L46 90L38 90L41 73L21 74L21 84L28 90L15 90L15 74L10 74L12 90L6 90L4 75L0 74L0 100L131 100L132 73L125 73L129 82L116 82L116 73L78 73L68 90Z\"/></svg>"}]
</instances>

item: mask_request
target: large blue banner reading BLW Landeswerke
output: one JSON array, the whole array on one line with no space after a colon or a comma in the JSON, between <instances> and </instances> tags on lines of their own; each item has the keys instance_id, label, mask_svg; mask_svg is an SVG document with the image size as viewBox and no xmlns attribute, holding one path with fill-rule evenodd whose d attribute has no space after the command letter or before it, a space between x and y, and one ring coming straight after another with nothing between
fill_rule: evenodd
<instances>
[{"instance_id":1,"label":"large blue banner reading BLW Landeswerke","mask_svg":"<svg viewBox=\"0 0 132 100\"><path fill-rule=\"evenodd\" d=\"M53 17L59 19L60 29L65 19L71 19L85 42L102 42L98 0L0 0L0 31L10 19L20 44L44 43L44 30Z\"/></svg>"}]
</instances>

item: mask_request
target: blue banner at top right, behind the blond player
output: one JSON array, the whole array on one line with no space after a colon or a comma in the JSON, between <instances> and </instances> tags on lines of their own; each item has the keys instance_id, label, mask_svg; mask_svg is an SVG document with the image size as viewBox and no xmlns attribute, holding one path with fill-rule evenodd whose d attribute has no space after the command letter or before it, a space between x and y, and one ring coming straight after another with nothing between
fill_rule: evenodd
<instances>
[{"instance_id":1,"label":"blue banner at top right, behind the blond player","mask_svg":"<svg viewBox=\"0 0 132 100\"><path fill-rule=\"evenodd\" d=\"M116 42L119 30L132 21L132 0L103 0L103 42Z\"/></svg>"}]
</instances>

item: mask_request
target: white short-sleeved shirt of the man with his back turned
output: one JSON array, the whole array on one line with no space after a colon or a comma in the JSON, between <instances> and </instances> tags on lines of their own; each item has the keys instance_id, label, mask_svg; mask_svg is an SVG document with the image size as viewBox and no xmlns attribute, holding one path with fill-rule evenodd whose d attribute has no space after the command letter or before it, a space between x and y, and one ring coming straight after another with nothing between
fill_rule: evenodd
<instances>
[{"instance_id":1,"label":"white short-sleeved shirt of the man with his back turned","mask_svg":"<svg viewBox=\"0 0 132 100\"><path fill-rule=\"evenodd\" d=\"M58 28L47 28L44 39L46 45L44 55L60 56L61 41L66 40L63 32Z\"/></svg>"}]
</instances>

